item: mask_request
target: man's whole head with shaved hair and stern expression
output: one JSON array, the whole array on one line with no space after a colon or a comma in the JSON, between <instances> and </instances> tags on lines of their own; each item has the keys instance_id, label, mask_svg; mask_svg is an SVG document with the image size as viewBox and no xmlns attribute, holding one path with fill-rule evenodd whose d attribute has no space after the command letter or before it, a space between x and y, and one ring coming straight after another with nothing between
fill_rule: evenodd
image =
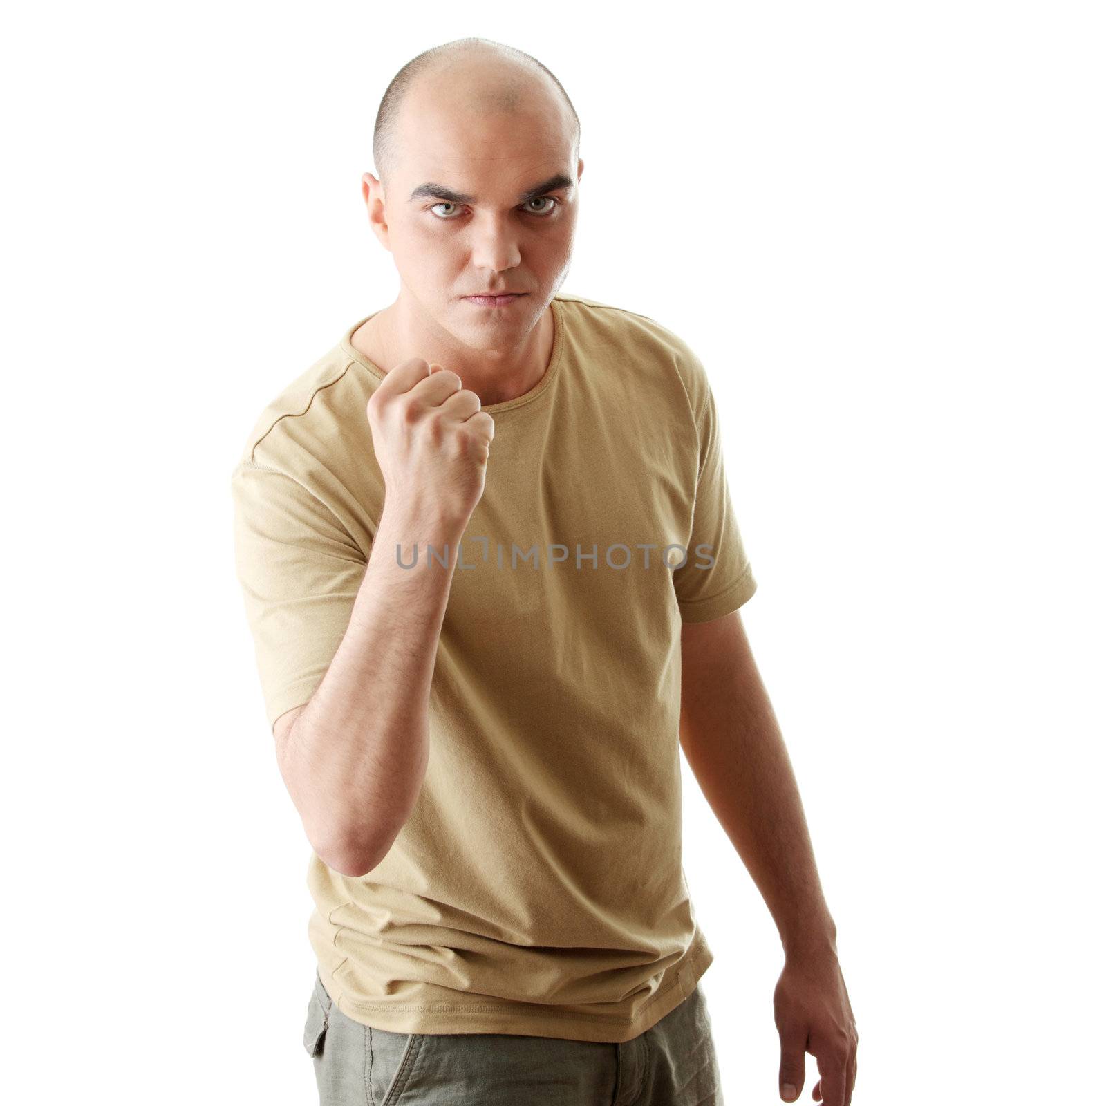
<instances>
[{"instance_id":1,"label":"man's whole head with shaved hair and stern expression","mask_svg":"<svg viewBox=\"0 0 1106 1106\"><path fill-rule=\"evenodd\" d=\"M520 342L567 274L576 225L580 119L556 77L486 39L436 46L388 85L373 155L362 192L409 305L474 348ZM463 299L488 290L526 294Z\"/></svg>"}]
</instances>

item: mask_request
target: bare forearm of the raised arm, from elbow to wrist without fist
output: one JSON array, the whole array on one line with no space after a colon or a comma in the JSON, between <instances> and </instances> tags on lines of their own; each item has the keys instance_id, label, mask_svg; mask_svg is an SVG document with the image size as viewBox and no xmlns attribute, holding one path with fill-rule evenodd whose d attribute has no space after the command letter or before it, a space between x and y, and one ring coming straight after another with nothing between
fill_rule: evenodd
<instances>
[{"instance_id":1,"label":"bare forearm of the raised arm, from elbow to wrist without fist","mask_svg":"<svg viewBox=\"0 0 1106 1106\"><path fill-rule=\"evenodd\" d=\"M428 702L465 524L386 501L349 625L296 718L283 772L316 848L369 870L418 797L429 753ZM418 543L418 563L404 568ZM427 545L444 555L431 559ZM325 844L323 844L325 843ZM335 862L338 863L338 862Z\"/></svg>"}]
</instances>

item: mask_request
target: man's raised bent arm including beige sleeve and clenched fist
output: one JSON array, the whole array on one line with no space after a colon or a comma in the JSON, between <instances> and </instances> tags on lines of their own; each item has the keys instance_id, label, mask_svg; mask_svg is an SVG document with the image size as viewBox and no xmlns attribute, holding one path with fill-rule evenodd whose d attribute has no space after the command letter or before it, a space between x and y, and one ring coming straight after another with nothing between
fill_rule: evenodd
<instances>
[{"instance_id":1,"label":"man's raised bent arm including beige sleeve and clenched fist","mask_svg":"<svg viewBox=\"0 0 1106 1106\"><path fill-rule=\"evenodd\" d=\"M281 706L280 772L315 852L348 876L380 863L422 786L438 638L495 432L480 397L420 357L387 373L366 416L385 487L367 562L279 450L232 481L238 575L265 701ZM397 546L422 564L404 568ZM428 546L446 564L427 563Z\"/></svg>"}]
</instances>

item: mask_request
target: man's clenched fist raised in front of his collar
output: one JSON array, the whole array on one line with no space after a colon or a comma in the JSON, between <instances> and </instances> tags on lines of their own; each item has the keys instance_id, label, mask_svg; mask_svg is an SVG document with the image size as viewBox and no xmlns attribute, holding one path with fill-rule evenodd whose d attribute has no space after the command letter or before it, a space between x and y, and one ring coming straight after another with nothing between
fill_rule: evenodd
<instances>
[{"instance_id":1,"label":"man's clenched fist raised in front of his collar","mask_svg":"<svg viewBox=\"0 0 1106 1106\"><path fill-rule=\"evenodd\" d=\"M465 525L495 435L480 397L456 373L411 357L385 375L367 413L387 500Z\"/></svg>"}]
</instances>

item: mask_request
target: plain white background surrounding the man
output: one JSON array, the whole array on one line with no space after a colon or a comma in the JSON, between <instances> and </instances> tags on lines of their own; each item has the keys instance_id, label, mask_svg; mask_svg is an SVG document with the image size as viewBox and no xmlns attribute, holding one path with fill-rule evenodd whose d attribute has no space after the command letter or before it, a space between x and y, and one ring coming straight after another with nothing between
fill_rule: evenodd
<instances>
[{"instance_id":1,"label":"plain white background surrounding the man","mask_svg":"<svg viewBox=\"0 0 1106 1106\"><path fill-rule=\"evenodd\" d=\"M1100 15L9 15L3 1097L315 1100L310 846L229 473L264 404L395 298L359 195L376 108L467 34L541 59L580 113L564 291L708 368L854 1102L1099 1094ZM686 764L685 811L726 1098L779 1102L779 938ZM816 1078L807 1057L803 1100Z\"/></svg>"}]
</instances>

